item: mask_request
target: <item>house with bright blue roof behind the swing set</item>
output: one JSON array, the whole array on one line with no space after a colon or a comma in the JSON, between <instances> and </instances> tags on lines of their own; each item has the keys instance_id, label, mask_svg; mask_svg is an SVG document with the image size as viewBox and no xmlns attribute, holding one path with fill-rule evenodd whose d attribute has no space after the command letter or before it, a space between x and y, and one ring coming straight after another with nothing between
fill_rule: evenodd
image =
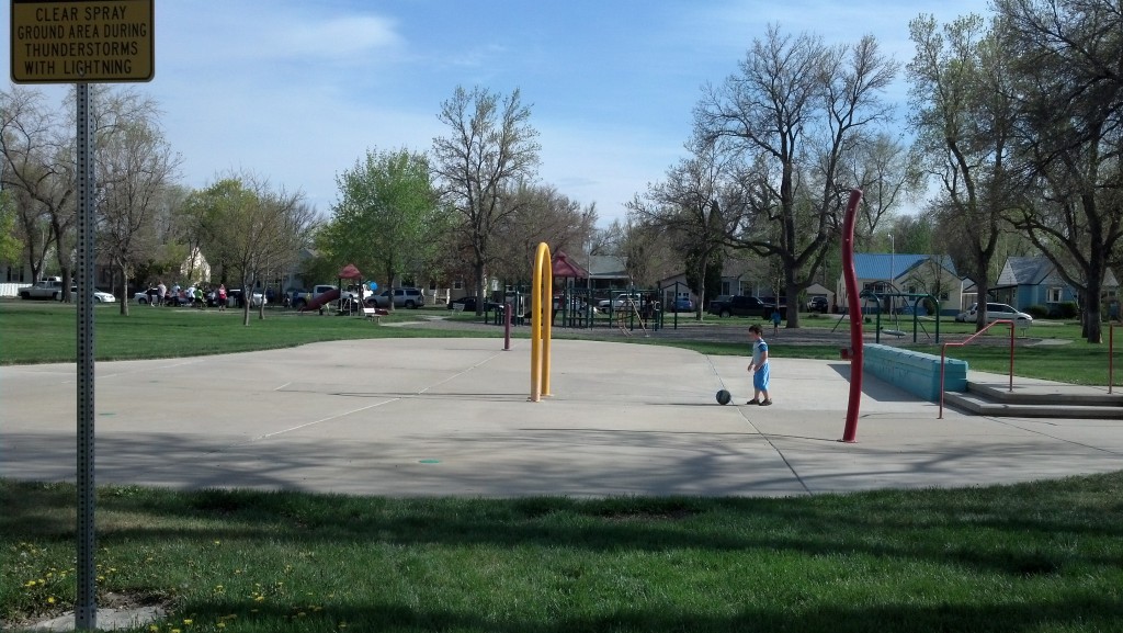
<instances>
[{"instance_id":1,"label":"house with bright blue roof behind the swing set","mask_svg":"<svg viewBox=\"0 0 1123 633\"><path fill-rule=\"evenodd\" d=\"M924 295L940 302L940 311L955 315L962 302L964 282L948 255L861 253L853 256L858 301L862 313L892 314L911 309ZM839 308L849 310L846 280L836 289Z\"/></svg>"}]
</instances>

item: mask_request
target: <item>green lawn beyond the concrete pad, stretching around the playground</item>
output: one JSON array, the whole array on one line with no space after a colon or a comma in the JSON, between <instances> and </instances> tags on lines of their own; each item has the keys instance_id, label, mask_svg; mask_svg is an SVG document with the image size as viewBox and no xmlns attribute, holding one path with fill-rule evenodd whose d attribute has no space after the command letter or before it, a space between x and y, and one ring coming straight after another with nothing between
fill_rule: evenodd
<instances>
[{"instance_id":1,"label":"green lawn beyond the concrete pad, stretching around the playground","mask_svg":"<svg viewBox=\"0 0 1123 633\"><path fill-rule=\"evenodd\" d=\"M439 336L502 336L503 328L463 332L457 329L435 329L413 327L380 327L357 317L298 315L291 310L267 309L264 319L252 311L249 324L244 325L240 310L194 310L180 308L149 308L130 306L129 316L121 316L116 305L99 305L94 317L94 354L99 361L194 356L207 354L249 352L276 347L292 347L319 341L381 337L439 337ZM481 317L453 313L442 308L420 310L395 310L383 317L383 325L408 323L426 317L442 317L451 322L478 322ZM693 315L679 315L677 328L673 315L665 320L665 329L674 332L673 337L619 336L618 342L656 345L675 345L706 354L746 353L743 338L733 336L730 341L713 341L715 331L742 331L756 319L716 318L709 316L699 323ZM928 334L934 334L934 324L924 324ZM800 331L827 331L834 326L832 319L820 315L804 315ZM888 325L883 324L888 327ZM911 323L901 322L894 327L912 335ZM867 325L867 329L873 325ZM514 336L527 336L529 328L519 327ZM843 328L836 328L839 336ZM795 331L796 333L800 331ZM588 335L603 336L614 332L606 322L600 323L590 334L582 331L556 329L558 338L584 338ZM767 332L767 331L766 331ZM974 332L974 325L953 323L940 324L943 341L962 340ZM696 336L694 338L693 336ZM775 342L777 356L805 359L838 359L838 344L785 345L782 333ZM797 336L797 334L796 334ZM1107 345L1093 345L1080 338L1076 324L1035 325L1031 336L1034 340L1062 342L1061 345L1019 345L1015 353L1016 376L1042 378L1077 385L1107 383ZM1106 335L1105 335L1106 336ZM919 334L919 343L907 346L940 354L940 346L932 344L924 331ZM844 338L843 338L844 340ZM968 361L973 369L1005 373L1010 365L1006 332L994 331L985 335L986 344L955 349L949 355ZM74 306L53 302L0 302L0 364L22 364L43 362L72 362L75 358L75 310ZM1123 347L1123 341L1116 343ZM1123 365L1123 354L1116 350L1116 363ZM1123 380L1123 367L1116 371L1116 383Z\"/></svg>"}]
</instances>

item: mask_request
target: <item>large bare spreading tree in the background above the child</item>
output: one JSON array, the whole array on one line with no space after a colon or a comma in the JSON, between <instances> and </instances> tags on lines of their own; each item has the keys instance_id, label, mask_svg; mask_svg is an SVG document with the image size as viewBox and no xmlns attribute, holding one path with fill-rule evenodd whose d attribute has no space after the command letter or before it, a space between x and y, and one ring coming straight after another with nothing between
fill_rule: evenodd
<instances>
[{"instance_id":1,"label":"large bare spreading tree in the background above the child","mask_svg":"<svg viewBox=\"0 0 1123 633\"><path fill-rule=\"evenodd\" d=\"M889 118L880 94L896 67L871 36L829 47L773 26L696 108L702 138L729 138L746 154L754 179L732 245L783 262L788 327L798 327L795 297L815 279L856 184L842 165Z\"/></svg>"}]
</instances>

